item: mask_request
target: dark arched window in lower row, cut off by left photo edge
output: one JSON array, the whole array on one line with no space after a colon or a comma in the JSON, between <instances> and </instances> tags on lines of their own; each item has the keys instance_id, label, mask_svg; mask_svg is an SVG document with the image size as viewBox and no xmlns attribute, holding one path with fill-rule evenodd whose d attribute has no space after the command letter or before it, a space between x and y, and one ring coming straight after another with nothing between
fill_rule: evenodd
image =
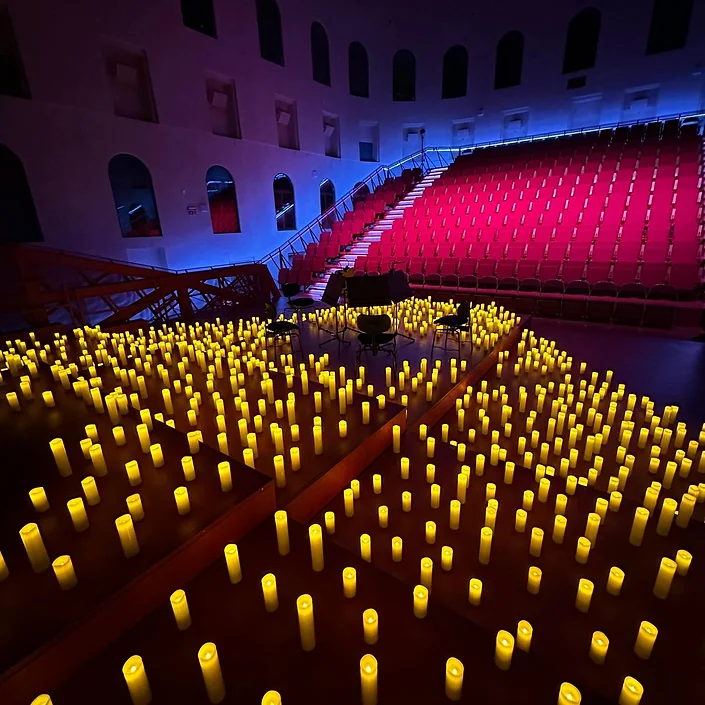
<instances>
[{"instance_id":1,"label":"dark arched window in lower row, cut off by left photo edge","mask_svg":"<svg viewBox=\"0 0 705 705\"><path fill-rule=\"evenodd\" d=\"M20 158L0 145L0 242L41 242L37 211Z\"/></svg>"}]
</instances>

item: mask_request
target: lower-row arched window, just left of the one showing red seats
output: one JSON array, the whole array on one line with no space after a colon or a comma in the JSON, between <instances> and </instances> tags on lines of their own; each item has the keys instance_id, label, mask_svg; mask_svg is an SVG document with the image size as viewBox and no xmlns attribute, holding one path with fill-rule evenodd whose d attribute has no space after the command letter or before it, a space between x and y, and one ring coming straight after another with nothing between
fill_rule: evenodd
<instances>
[{"instance_id":1,"label":"lower-row arched window, just left of the one showing red seats","mask_svg":"<svg viewBox=\"0 0 705 705\"><path fill-rule=\"evenodd\" d=\"M117 154L108 164L110 186L123 237L162 234L149 169L131 154Z\"/></svg>"}]
</instances>

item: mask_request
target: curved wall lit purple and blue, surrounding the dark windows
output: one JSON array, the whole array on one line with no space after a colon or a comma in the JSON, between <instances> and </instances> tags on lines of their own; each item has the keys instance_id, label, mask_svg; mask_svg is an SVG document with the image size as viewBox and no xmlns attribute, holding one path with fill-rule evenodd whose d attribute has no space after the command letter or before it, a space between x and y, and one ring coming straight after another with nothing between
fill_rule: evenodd
<instances>
[{"instance_id":1,"label":"curved wall lit purple and blue, surrounding the dark windows","mask_svg":"<svg viewBox=\"0 0 705 705\"><path fill-rule=\"evenodd\" d=\"M279 0L284 68L260 58L254 0L214 3L217 40L183 26L178 0L6 3L32 100L0 96L0 143L24 163L48 246L173 268L258 258L293 234L276 230L275 174L291 177L303 227L319 213L322 179L331 179L342 195L377 166L359 162L361 121L379 122L380 162L389 163L413 151L402 137L409 125L425 126L428 145L447 146L458 121L472 126L475 141L501 138L513 111L525 112L526 132L536 134L586 124L593 116L606 123L694 111L705 100L702 0L695 3L688 46L654 56L644 53L650 0L596 0L602 11L597 64L581 72L585 88L570 91L561 65L566 26L584 7L575 0ZM311 78L313 21L328 32L332 87ZM522 85L494 91L496 43L510 29L525 36ZM347 50L355 40L369 55L369 99L348 93ZM106 42L146 52L158 124L114 116ZM468 97L441 100L443 54L454 44L470 55ZM392 56L400 48L416 55L413 103L391 100ZM241 140L211 133L210 73L237 86ZM625 96L635 90L652 96L643 115L627 107ZM299 151L277 146L275 96L297 103ZM324 111L340 118L341 159L323 153ZM120 235L107 165L121 152L151 171L161 238ZM207 202L205 173L214 164L234 177L242 233L214 235L207 212L187 212Z\"/></svg>"}]
</instances>

